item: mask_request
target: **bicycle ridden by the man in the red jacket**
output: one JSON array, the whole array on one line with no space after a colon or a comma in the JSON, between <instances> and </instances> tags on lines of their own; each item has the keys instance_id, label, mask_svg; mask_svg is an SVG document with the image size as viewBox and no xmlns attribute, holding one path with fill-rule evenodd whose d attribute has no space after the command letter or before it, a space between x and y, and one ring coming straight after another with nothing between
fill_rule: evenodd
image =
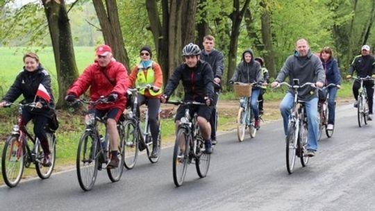
<instances>
[{"instance_id":1,"label":"bicycle ridden by the man in the red jacket","mask_svg":"<svg viewBox=\"0 0 375 211\"><path fill-rule=\"evenodd\" d=\"M85 103L91 105L92 108L100 103L110 103L108 98L101 96L97 101L85 101L83 99L77 99L74 103ZM108 128L106 126L107 118L97 117L94 113L89 112L85 117L86 128L81 135L78 143L77 157L76 157L76 169L78 183L81 188L85 191L89 191L94 186L97 180L98 170L107 170L108 177L112 182L117 182L122 177L124 167L124 117L120 118L117 123L117 130L119 131L119 158L118 168L107 168L110 158L110 142ZM106 135L103 137L99 134L97 122L101 122L106 126Z\"/></svg>"}]
</instances>

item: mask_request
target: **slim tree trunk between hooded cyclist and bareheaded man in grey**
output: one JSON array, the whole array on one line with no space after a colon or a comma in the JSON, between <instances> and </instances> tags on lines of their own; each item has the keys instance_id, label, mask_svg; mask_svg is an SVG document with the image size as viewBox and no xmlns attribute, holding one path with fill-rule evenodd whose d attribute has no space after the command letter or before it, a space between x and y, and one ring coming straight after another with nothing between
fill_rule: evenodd
<instances>
[{"instance_id":1,"label":"slim tree trunk between hooded cyclist and bareheaded man in grey","mask_svg":"<svg viewBox=\"0 0 375 211\"><path fill-rule=\"evenodd\" d=\"M275 53L272 47L272 32L271 32L271 21L270 12L267 10L267 4L263 1L260 2L260 6L263 8L260 17L262 26L262 40L265 45L265 66L269 71L270 76L276 77L277 71L275 67Z\"/></svg>"}]
</instances>

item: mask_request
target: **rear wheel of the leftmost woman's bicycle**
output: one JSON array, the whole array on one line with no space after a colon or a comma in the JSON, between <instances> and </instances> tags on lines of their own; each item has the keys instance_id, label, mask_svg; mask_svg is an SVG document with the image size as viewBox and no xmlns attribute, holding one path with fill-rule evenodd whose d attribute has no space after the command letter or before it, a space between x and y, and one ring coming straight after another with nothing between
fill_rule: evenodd
<instances>
[{"instance_id":1,"label":"rear wheel of the leftmost woman's bicycle","mask_svg":"<svg viewBox=\"0 0 375 211\"><path fill-rule=\"evenodd\" d=\"M51 166L44 167L42 163L44 162L44 152L42 150L42 146L40 145L40 141L38 140L35 149L37 152L37 161L35 162L35 170L37 171L38 176L41 179L47 179L51 176L53 167L55 167L55 160L56 160L56 141L55 135L53 133L46 133L49 151L51 152Z\"/></svg>"}]
</instances>

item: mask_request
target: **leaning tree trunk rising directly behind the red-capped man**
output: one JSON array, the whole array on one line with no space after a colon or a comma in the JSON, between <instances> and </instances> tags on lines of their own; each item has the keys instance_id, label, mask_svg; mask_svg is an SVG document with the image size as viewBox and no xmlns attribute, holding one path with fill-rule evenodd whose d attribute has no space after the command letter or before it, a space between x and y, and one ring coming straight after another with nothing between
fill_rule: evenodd
<instances>
[{"instance_id":1,"label":"leaning tree trunk rising directly behind the red-capped man","mask_svg":"<svg viewBox=\"0 0 375 211\"><path fill-rule=\"evenodd\" d=\"M104 42L112 48L113 57L118 62L122 62L126 69L130 71L128 53L124 46L119 24L116 0L106 0L106 8L104 8L103 1L101 0L92 0L92 3L94 3L95 11L97 11Z\"/></svg>"}]
</instances>

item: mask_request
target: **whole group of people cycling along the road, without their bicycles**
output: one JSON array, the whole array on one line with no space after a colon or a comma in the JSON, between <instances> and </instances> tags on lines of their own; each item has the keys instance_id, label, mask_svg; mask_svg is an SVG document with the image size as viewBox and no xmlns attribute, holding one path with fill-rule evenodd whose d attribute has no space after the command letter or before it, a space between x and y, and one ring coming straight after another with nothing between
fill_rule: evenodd
<instances>
[{"instance_id":1,"label":"whole group of people cycling along the road, without their bicycles","mask_svg":"<svg viewBox=\"0 0 375 211\"><path fill-rule=\"evenodd\" d=\"M99 104L94 108L89 108L89 112L94 112L98 117L107 116L107 127L110 137L110 160L108 168L122 167L117 158L119 145L119 132L117 131L117 121L122 116L126 108L126 90L128 87L142 87L138 90L138 102L147 103L149 124L153 142L152 156L157 156L159 121L158 112L160 102L167 102L172 96L174 90L181 81L184 91L184 101L199 101L206 103L207 106L191 105L191 112L197 112L198 124L201 129L201 135L204 139L205 153L212 153L212 145L217 144L215 131L215 113L217 101L220 93L220 86L214 84L222 83L224 72L223 53L215 49L215 38L207 35L203 38L203 49L197 44L187 44L182 50L183 63L178 65L173 71L172 76L163 90L163 72L160 65L152 60L152 51L148 46L140 49L140 62L135 65L128 76L126 67L113 58L112 49L102 44L96 49L96 58L92 65L89 65L81 76L69 87L65 100L74 102L81 94L85 93L90 87L90 100L96 101L101 96L107 96L108 101L112 103ZM51 165L49 158L49 146L44 128L53 120L55 112L55 103L51 90L51 77L42 67L38 56L35 53L26 53L24 56L24 67L19 72L15 82L10 87L0 102L0 108L6 103L14 102L21 94L26 103L35 102L35 108L26 109L22 113L24 116L24 125L31 119L34 121L34 133L42 144L44 151L44 165ZM251 49L242 53L242 61L236 67L230 83L260 83L267 85L269 83L269 73L265 69L263 58L256 58ZM356 71L360 77L372 76L375 73L375 58L370 55L370 48L364 45L361 49L361 55L354 58L349 69L348 77ZM272 82L272 87L277 87L285 78L299 79L299 83L315 83L318 88L324 87L329 83L334 83L335 87L329 87L326 92L329 93L328 99L328 129L333 129L335 124L335 96L340 88L341 77L338 69L338 62L333 58L333 51L329 47L324 47L315 55L309 47L308 41L299 39L296 42L294 53L287 58L276 79ZM43 95L36 94L40 90L40 85L45 87L44 91L49 96L48 99ZM145 85L151 85L150 88L144 88ZM374 94L374 82L365 83L368 94L369 120L372 120L372 98ZM260 115L263 113L263 103L259 105L258 99L262 99L264 90L254 86L251 94L251 110L256 119L256 128L260 128ZM322 93L323 95L326 93ZM358 82L353 83L353 96L358 96ZM308 119L308 146L306 155L314 156L318 147L319 139L319 116L318 116L318 89L311 86L299 89L299 99L306 103L306 113ZM325 99L324 97L321 99ZM357 99L356 99L357 100ZM281 115L283 117L283 127L285 135L288 131L288 119L290 109L293 104L293 92L290 90L280 103ZM175 117L176 127L181 117L185 115L185 106L181 105ZM190 106L190 105L189 105ZM356 103L354 104L356 106Z\"/></svg>"}]
</instances>

